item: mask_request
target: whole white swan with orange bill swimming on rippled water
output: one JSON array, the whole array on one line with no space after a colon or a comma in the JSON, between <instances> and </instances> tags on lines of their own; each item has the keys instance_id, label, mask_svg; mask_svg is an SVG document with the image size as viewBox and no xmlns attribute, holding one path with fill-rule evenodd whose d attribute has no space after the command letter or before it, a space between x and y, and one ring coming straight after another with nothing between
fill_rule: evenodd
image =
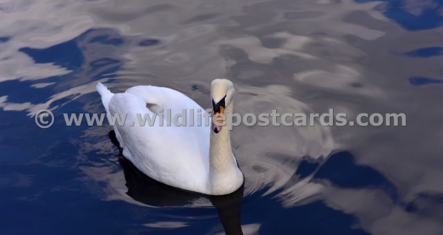
<instances>
[{"instance_id":1,"label":"whole white swan with orange bill swimming on rippled water","mask_svg":"<svg viewBox=\"0 0 443 235\"><path fill-rule=\"evenodd\" d=\"M230 130L211 122L197 126L197 111L204 109L183 93L157 86L134 86L125 93L111 93L97 84L103 106L108 113L127 115L123 126L114 125L116 138L123 155L147 176L180 189L202 194L230 194L243 184L243 173L237 166L230 145ZM235 90L228 79L215 79L210 95L213 113L224 113L227 119L233 112ZM185 126L168 126L167 110L171 114L183 109L195 113ZM138 124L145 114L156 116L154 125ZM216 117L217 118L217 117ZM135 123L132 125L132 123ZM218 122L217 122L218 123Z\"/></svg>"}]
</instances>

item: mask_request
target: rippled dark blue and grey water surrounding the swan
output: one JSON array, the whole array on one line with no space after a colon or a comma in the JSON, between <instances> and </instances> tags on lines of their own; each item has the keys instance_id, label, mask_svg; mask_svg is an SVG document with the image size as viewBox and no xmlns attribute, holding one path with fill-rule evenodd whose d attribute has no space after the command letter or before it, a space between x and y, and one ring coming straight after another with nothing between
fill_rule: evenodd
<instances>
[{"instance_id":1,"label":"rippled dark blue and grey water surrounding the swan","mask_svg":"<svg viewBox=\"0 0 443 235\"><path fill-rule=\"evenodd\" d=\"M443 234L442 6L0 1L0 234ZM244 188L214 198L143 176L110 126L62 118L104 111L97 82L208 107L217 77L239 113L405 113L407 126L239 126Z\"/></svg>"}]
</instances>

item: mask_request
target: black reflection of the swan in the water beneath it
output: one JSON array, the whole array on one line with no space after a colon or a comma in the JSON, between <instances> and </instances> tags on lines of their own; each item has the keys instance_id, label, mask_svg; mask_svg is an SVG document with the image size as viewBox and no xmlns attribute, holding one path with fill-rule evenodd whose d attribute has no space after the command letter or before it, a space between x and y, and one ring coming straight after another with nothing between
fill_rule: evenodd
<instances>
[{"instance_id":1,"label":"black reflection of the swan in the water beneath it","mask_svg":"<svg viewBox=\"0 0 443 235\"><path fill-rule=\"evenodd\" d=\"M139 171L132 162L122 155L118 140L114 131L109 132L111 142L120 150L118 162L125 174L127 195L134 200L154 206L170 207L189 205L190 201L198 198L208 198L217 208L221 224L226 234L243 234L240 223L240 201L243 198L244 186L234 191L232 194L224 196L210 196L197 194L191 191L184 191L175 187L170 187L162 182L156 181L143 172Z\"/></svg>"}]
</instances>

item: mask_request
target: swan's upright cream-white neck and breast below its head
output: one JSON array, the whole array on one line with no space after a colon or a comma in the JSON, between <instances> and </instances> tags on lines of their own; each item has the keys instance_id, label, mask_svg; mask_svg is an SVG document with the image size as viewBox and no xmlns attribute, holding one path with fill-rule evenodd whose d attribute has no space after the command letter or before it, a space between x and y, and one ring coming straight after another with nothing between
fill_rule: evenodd
<instances>
[{"instance_id":1,"label":"swan's upright cream-white neck and breast below its head","mask_svg":"<svg viewBox=\"0 0 443 235\"><path fill-rule=\"evenodd\" d=\"M237 167L230 145L228 122L232 113L233 104L230 102L224 111L226 126L219 133L210 131L209 184L213 194L230 193L243 184L243 174Z\"/></svg>"}]
</instances>

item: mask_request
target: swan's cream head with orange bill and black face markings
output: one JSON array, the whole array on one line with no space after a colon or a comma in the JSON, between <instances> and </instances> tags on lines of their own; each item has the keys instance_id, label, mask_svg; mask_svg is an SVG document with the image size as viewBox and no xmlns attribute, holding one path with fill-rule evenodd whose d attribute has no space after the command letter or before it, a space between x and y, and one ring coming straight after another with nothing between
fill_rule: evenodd
<instances>
[{"instance_id":1,"label":"swan's cream head with orange bill and black face markings","mask_svg":"<svg viewBox=\"0 0 443 235\"><path fill-rule=\"evenodd\" d=\"M222 124L226 106L229 106L234 100L235 90L234 84L228 79L214 79L210 84L210 97L213 102L213 118L217 119L216 123ZM217 115L217 116L216 116ZM221 131L221 125L212 122L211 129L215 133Z\"/></svg>"}]
</instances>

